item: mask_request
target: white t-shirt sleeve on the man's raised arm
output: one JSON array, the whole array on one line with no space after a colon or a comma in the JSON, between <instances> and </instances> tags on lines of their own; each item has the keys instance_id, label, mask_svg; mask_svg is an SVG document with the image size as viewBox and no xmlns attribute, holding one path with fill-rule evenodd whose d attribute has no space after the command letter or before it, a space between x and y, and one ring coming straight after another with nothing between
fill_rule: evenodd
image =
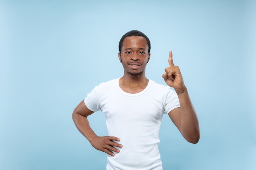
<instances>
[{"instance_id":1,"label":"white t-shirt sleeve on the man's raised arm","mask_svg":"<svg viewBox=\"0 0 256 170\"><path fill-rule=\"evenodd\" d=\"M171 110L178 107L180 107L178 95L169 88L165 99L164 113L168 114Z\"/></svg>"}]
</instances>

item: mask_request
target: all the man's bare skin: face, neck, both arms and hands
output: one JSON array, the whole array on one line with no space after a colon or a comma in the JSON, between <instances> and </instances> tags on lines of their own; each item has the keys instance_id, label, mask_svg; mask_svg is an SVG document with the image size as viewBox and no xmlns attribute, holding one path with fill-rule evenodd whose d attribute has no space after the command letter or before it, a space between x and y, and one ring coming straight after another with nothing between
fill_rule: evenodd
<instances>
[{"instance_id":1,"label":"all the man's bare skin: face, neck, both arms and hands","mask_svg":"<svg viewBox=\"0 0 256 170\"><path fill-rule=\"evenodd\" d=\"M119 80L120 88L127 93L139 93L148 85L148 79L145 76L146 65L150 60L148 53L148 44L145 38L141 36L126 37L123 42L121 52L118 53L119 61L124 67L124 76ZM189 98L188 91L184 85L180 68L173 64L172 51L169 52L169 67L165 68L163 74L164 81L168 86L175 89L179 101L180 108L175 108L168 113L169 117L181 132L182 136L189 142L196 144L200 139L200 130L198 118ZM72 114L73 121L78 130L90 141L90 144L97 150L106 152L115 156L113 152L119 153L118 148L122 148L118 137L97 136L92 128L90 128L87 117L92 112L89 110L84 101L82 101Z\"/></svg>"}]
</instances>

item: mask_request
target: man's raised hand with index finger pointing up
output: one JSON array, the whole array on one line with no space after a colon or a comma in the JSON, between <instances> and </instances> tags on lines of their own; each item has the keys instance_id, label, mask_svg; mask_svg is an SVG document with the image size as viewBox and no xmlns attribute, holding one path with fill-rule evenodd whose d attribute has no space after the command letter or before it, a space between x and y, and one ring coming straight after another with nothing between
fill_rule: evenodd
<instances>
[{"instance_id":1,"label":"man's raised hand with index finger pointing up","mask_svg":"<svg viewBox=\"0 0 256 170\"><path fill-rule=\"evenodd\" d=\"M182 93L184 91L185 85L183 82L182 75L180 73L180 68L173 64L173 53L169 52L168 63L170 67L165 68L165 73L163 74L164 81L168 86L175 89L177 93Z\"/></svg>"}]
</instances>

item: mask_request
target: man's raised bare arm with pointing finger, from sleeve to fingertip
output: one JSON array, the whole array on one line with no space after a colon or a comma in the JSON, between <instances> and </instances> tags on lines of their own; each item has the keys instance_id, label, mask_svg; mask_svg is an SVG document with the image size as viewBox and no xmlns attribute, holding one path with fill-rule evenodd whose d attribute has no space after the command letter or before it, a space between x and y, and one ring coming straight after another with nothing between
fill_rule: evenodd
<instances>
[{"instance_id":1,"label":"man's raised bare arm with pointing finger, from sleeve to fingertip","mask_svg":"<svg viewBox=\"0 0 256 170\"><path fill-rule=\"evenodd\" d=\"M174 88L180 102L180 108L171 110L168 115L175 126L180 130L182 136L187 141L196 144L200 139L198 117L189 98L187 88L184 85L180 68L173 64L172 51L169 52L168 63L170 67L165 68L163 78L168 86Z\"/></svg>"}]
</instances>

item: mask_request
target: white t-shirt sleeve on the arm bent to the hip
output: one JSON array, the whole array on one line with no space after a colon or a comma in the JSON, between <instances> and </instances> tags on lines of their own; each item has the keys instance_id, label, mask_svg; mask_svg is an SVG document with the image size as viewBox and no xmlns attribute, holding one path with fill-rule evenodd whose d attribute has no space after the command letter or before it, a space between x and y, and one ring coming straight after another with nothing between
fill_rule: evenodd
<instances>
[{"instance_id":1,"label":"white t-shirt sleeve on the arm bent to the hip","mask_svg":"<svg viewBox=\"0 0 256 170\"><path fill-rule=\"evenodd\" d=\"M99 104L99 86L96 86L84 99L85 106L92 110L93 112L97 112L100 110Z\"/></svg>"}]
</instances>

